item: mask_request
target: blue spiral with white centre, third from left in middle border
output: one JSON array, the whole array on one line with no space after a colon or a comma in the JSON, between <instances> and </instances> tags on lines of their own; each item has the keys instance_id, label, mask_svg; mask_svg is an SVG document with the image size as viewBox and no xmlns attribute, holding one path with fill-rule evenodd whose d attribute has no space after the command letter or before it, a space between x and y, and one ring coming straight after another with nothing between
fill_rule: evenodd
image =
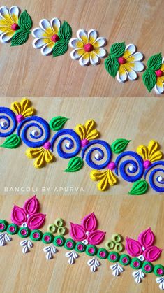
<instances>
[{"instance_id":1,"label":"blue spiral with white centre, third from left in middle border","mask_svg":"<svg viewBox=\"0 0 164 293\"><path fill-rule=\"evenodd\" d=\"M54 150L54 143L60 136L62 137L59 142L57 143L57 152L58 155L64 159L70 159L71 157L75 157L81 149L81 141L80 137L77 135L75 131L72 129L61 129L57 131L56 134L52 137L51 141L51 149L52 152ZM71 136L71 137L69 137ZM65 150L63 148L65 142ZM69 146L66 146L66 142L69 143ZM73 150L75 148L75 150ZM73 150L72 152L67 152L67 150Z\"/></svg>"}]
</instances>

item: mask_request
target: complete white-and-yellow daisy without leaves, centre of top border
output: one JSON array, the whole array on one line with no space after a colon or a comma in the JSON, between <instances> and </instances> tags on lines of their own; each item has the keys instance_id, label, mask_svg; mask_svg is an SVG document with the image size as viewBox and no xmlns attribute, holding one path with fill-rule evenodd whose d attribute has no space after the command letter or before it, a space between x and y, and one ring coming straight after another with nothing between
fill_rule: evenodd
<instances>
[{"instance_id":1,"label":"complete white-and-yellow daisy without leaves, centre of top border","mask_svg":"<svg viewBox=\"0 0 164 293\"><path fill-rule=\"evenodd\" d=\"M74 48L70 53L70 57L74 60L79 60L81 66L98 65L100 58L107 55L107 52L102 47L106 45L105 38L98 38L98 33L95 29L90 29L89 32L84 29L77 31L77 38L71 38L69 45Z\"/></svg>"}]
</instances>

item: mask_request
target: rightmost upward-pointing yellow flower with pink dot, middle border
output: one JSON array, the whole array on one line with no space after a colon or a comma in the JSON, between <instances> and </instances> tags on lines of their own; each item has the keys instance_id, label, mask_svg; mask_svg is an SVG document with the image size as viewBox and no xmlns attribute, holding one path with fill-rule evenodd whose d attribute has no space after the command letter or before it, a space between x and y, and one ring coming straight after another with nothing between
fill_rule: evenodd
<instances>
[{"instance_id":1,"label":"rightmost upward-pointing yellow flower with pink dot, middle border","mask_svg":"<svg viewBox=\"0 0 164 293\"><path fill-rule=\"evenodd\" d=\"M160 160L163 157L163 153L159 150L159 144L157 141L150 141L148 146L139 145L137 147L137 154L144 160L144 168L147 169L151 166L151 163Z\"/></svg>"}]
</instances>

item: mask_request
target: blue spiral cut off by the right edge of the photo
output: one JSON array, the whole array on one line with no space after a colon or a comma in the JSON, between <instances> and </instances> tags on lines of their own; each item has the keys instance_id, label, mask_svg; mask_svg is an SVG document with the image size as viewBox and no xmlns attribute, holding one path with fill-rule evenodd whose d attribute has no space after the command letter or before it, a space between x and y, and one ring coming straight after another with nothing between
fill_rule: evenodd
<instances>
[{"instance_id":1,"label":"blue spiral cut off by the right edge of the photo","mask_svg":"<svg viewBox=\"0 0 164 293\"><path fill-rule=\"evenodd\" d=\"M163 166L163 169L160 168L159 166ZM154 169L155 166L158 166L158 168ZM153 190L155 190L156 192L164 192L164 179L163 180L159 180L159 178L161 176L156 176L156 173L160 172L164 175L164 162L163 161L158 161L155 162L154 164L152 164L145 172L144 172L144 179L146 179L147 174L149 173L149 171L151 170L150 174L149 174L149 183L151 185L151 188L153 188ZM161 177L162 178L162 177ZM162 186L159 186L162 185Z\"/></svg>"}]
</instances>

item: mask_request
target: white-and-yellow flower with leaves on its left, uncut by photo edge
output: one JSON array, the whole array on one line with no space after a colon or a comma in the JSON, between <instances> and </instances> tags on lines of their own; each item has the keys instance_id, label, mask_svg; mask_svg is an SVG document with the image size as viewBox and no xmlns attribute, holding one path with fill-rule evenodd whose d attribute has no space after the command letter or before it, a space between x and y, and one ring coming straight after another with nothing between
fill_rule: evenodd
<instances>
[{"instance_id":1,"label":"white-and-yellow flower with leaves on its left, uncut by photo edge","mask_svg":"<svg viewBox=\"0 0 164 293\"><path fill-rule=\"evenodd\" d=\"M133 44L126 46L124 55L118 58L119 71L117 72L117 80L124 83L126 80L136 80L136 71L143 71L144 64L140 62L143 59L141 52L137 52L137 48Z\"/></svg>"}]
</instances>

